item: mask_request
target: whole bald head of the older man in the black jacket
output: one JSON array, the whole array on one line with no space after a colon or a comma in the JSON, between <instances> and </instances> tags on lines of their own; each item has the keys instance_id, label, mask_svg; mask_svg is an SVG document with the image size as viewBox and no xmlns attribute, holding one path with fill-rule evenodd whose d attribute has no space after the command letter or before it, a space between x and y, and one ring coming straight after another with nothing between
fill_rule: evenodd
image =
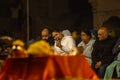
<instances>
[{"instance_id":1,"label":"whole bald head of the older man in the black jacket","mask_svg":"<svg viewBox=\"0 0 120 80\"><path fill-rule=\"evenodd\" d=\"M100 27L98 30L98 39L105 40L108 37L108 29L106 27Z\"/></svg>"}]
</instances>

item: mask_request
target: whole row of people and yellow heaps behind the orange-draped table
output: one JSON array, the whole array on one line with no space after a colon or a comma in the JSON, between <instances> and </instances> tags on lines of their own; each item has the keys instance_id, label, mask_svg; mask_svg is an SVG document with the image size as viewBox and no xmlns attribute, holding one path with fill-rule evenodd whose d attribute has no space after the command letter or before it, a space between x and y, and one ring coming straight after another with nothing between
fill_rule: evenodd
<instances>
[{"instance_id":1,"label":"whole row of people and yellow heaps behind the orange-draped table","mask_svg":"<svg viewBox=\"0 0 120 80\"><path fill-rule=\"evenodd\" d=\"M98 30L85 28L80 31L80 34L77 31L71 32L69 29L54 28L50 30L48 27L44 27L38 38L26 43L27 48L21 40L9 37L4 37L4 39L1 37L0 40L5 39L8 40L5 41L5 44L9 45L0 44L1 55L8 55L8 57L20 57L21 55L25 57L28 56L27 54L36 54L35 56L84 55L99 78L112 77L109 76L110 69L113 69L111 64L117 60L116 57L120 52L120 38L111 36L111 31L105 26L99 27ZM7 48L4 50L3 47ZM120 70L119 67L117 70ZM116 75L113 77L120 78L119 71L116 72Z\"/></svg>"}]
</instances>

